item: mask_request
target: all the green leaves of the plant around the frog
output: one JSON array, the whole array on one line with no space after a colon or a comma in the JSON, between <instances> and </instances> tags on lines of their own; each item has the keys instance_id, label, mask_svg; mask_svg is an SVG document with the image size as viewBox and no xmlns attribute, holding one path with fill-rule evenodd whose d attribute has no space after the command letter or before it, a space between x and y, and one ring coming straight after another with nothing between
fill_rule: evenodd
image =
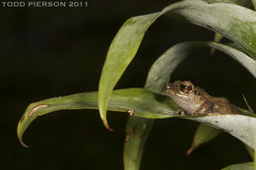
<instances>
[{"instance_id":1,"label":"all the green leaves of the plant around the frog","mask_svg":"<svg viewBox=\"0 0 256 170\"><path fill-rule=\"evenodd\" d=\"M189 54L205 47L220 50L236 60L256 78L256 13L241 6L245 6L245 4L248 4L248 1L184 0L171 4L158 13L127 20L109 47L98 92L78 93L32 103L19 122L17 130L19 140L23 143L23 134L37 116L53 111L98 108L103 124L109 130L106 110L128 112L132 116L127 123L124 166L126 170L139 169L143 148L154 124L154 119L174 117L173 113L178 107L171 98L161 94L161 87L169 81L172 71ZM216 42L186 41L173 45L154 63L144 88L113 90L135 57L147 29L162 15L214 30L218 33L219 38ZM233 43L219 43L223 36ZM244 115L186 116L180 118L221 129L254 149L256 118L252 112L241 110ZM215 130L209 126L200 125L192 148L211 141L220 132L220 130ZM136 146L133 146L133 143L137 143ZM249 169L251 166L253 163L244 163L228 166L224 169L239 169L241 167L248 167Z\"/></svg>"}]
</instances>

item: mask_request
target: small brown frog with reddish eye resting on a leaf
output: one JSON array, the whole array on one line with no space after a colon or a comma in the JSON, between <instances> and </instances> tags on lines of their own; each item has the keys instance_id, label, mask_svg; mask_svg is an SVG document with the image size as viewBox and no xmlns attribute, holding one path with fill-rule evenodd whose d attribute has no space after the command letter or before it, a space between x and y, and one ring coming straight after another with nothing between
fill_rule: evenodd
<instances>
[{"instance_id":1,"label":"small brown frog with reddish eye resting on a leaf","mask_svg":"<svg viewBox=\"0 0 256 170\"><path fill-rule=\"evenodd\" d=\"M190 81L163 85L162 91L180 107L174 115L242 114L224 97L214 97Z\"/></svg>"}]
</instances>

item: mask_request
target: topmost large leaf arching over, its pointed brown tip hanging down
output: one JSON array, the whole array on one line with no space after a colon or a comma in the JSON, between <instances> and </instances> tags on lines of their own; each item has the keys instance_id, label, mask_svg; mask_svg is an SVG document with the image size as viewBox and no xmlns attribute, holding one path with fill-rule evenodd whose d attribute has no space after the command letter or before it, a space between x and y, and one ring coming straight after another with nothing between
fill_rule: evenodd
<instances>
[{"instance_id":1,"label":"topmost large leaf arching over, its pointed brown tip hanging down","mask_svg":"<svg viewBox=\"0 0 256 170\"><path fill-rule=\"evenodd\" d=\"M131 18L114 37L99 81L99 113L107 128L106 108L111 91L134 58L146 30L163 14L213 29L256 59L256 13L238 5L184 0L171 4L160 13Z\"/></svg>"}]
</instances>

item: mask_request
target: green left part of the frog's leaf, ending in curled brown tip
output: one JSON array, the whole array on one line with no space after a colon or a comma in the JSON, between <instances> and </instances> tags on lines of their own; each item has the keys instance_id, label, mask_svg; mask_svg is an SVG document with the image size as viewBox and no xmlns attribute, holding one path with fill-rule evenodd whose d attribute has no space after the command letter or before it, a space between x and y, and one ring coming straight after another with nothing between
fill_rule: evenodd
<instances>
[{"instance_id":1,"label":"green left part of the frog's leaf, ending in curled brown tip","mask_svg":"<svg viewBox=\"0 0 256 170\"><path fill-rule=\"evenodd\" d=\"M20 142L23 143L23 134L38 116L72 109L97 109L97 92L54 97L30 104L18 124L17 134ZM119 112L134 110L135 116L143 118L172 117L176 109L176 103L169 97L143 88L114 90L108 104L108 110Z\"/></svg>"}]
</instances>

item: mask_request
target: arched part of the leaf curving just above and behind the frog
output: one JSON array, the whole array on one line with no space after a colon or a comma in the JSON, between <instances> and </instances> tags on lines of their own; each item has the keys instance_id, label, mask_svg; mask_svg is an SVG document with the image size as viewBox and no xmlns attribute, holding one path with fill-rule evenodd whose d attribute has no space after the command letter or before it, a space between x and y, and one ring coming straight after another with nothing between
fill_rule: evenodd
<instances>
[{"instance_id":1,"label":"arched part of the leaf curving just above and behind the frog","mask_svg":"<svg viewBox=\"0 0 256 170\"><path fill-rule=\"evenodd\" d=\"M254 78L256 78L256 61L250 58L245 53L239 51L238 49L228 45L224 45L217 42L211 42L211 41L187 41L187 42L181 42L173 45L161 56L159 60L157 60L159 64L156 65L156 67L153 66L151 68L152 74L149 77L153 77L153 78L151 78L148 81L148 84L149 85L156 84L159 86L166 84L168 81L158 81L158 80L159 79L164 80L161 78L168 78L172 70L174 70L175 67L185 57L187 57L192 52L205 47L212 47L229 55L231 58L233 58L242 66L244 66L245 69L247 69L254 76ZM155 74L155 73L158 73L158 74Z\"/></svg>"}]
</instances>

